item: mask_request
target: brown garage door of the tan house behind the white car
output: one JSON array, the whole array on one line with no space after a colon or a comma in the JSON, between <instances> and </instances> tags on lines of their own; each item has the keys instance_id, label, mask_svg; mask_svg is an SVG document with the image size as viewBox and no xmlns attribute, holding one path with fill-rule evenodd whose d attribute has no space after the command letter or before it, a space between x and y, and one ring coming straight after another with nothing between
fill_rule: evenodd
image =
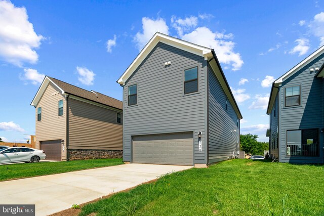
<instances>
[{"instance_id":1,"label":"brown garage door of the tan house behind the white car","mask_svg":"<svg viewBox=\"0 0 324 216\"><path fill-rule=\"evenodd\" d=\"M47 160L61 160L61 140L42 141L41 150L45 151Z\"/></svg>"}]
</instances>

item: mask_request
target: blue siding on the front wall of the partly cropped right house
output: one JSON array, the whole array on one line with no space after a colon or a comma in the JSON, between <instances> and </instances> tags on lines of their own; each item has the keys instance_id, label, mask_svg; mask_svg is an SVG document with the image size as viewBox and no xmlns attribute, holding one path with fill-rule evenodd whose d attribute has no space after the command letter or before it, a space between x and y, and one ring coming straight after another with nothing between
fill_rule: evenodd
<instances>
[{"instance_id":1,"label":"blue siding on the front wall of the partly cropped right house","mask_svg":"<svg viewBox=\"0 0 324 216\"><path fill-rule=\"evenodd\" d=\"M323 80L316 78L315 72L309 68L320 67L324 63L324 54L282 82L279 89L280 96L280 162L292 163L323 163ZM301 86L301 106L285 107L285 87ZM319 157L287 156L287 130L291 129L319 129Z\"/></svg>"}]
</instances>

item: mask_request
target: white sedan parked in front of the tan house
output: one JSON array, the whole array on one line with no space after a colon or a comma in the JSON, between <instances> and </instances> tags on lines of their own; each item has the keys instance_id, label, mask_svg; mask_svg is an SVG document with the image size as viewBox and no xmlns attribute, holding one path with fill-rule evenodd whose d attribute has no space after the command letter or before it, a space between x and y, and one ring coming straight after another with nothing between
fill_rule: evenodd
<instances>
[{"instance_id":1,"label":"white sedan parked in front of the tan house","mask_svg":"<svg viewBox=\"0 0 324 216\"><path fill-rule=\"evenodd\" d=\"M46 154L42 150L26 148L26 147L11 147L0 150L0 163L15 163L15 162L38 162L45 159Z\"/></svg>"}]
</instances>

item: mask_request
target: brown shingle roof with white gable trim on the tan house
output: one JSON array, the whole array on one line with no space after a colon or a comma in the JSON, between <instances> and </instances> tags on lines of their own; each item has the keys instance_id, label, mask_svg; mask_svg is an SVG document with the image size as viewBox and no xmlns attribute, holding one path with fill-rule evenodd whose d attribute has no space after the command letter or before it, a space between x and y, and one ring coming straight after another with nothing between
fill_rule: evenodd
<instances>
[{"instance_id":1,"label":"brown shingle roof with white gable trim on the tan house","mask_svg":"<svg viewBox=\"0 0 324 216\"><path fill-rule=\"evenodd\" d=\"M79 87L76 87L75 85L69 84L67 82L63 82L59 79L55 79L53 77L46 76L41 84L41 87L39 87L34 99L32 100L31 104L32 106L36 106L41 99L44 91L46 90L46 87L49 83L53 83L59 90L61 94L68 94L68 95L74 95L79 98L87 99L93 102L97 102L106 106L110 106L116 109L123 110L123 102L111 98L109 96L106 96L104 94L101 94L99 92L95 91L87 91L85 89L81 89Z\"/></svg>"}]
</instances>

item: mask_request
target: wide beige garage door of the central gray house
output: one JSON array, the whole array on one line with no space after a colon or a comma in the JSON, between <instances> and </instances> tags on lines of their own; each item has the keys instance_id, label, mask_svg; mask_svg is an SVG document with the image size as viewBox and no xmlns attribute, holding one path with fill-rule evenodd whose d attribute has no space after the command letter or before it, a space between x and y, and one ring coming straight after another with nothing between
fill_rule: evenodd
<instances>
[{"instance_id":1,"label":"wide beige garage door of the central gray house","mask_svg":"<svg viewBox=\"0 0 324 216\"><path fill-rule=\"evenodd\" d=\"M192 133L135 136L133 162L192 165Z\"/></svg>"}]
</instances>

